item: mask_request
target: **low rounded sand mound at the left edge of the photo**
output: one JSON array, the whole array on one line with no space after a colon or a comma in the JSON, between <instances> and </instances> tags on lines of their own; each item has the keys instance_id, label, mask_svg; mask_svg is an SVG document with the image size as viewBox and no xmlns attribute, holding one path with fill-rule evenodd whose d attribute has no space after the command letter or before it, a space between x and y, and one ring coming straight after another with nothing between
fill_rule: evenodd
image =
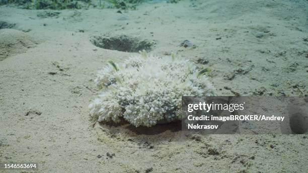
<instances>
[{"instance_id":1,"label":"low rounded sand mound at the left edge of the photo","mask_svg":"<svg viewBox=\"0 0 308 173\"><path fill-rule=\"evenodd\" d=\"M14 29L0 30L0 61L34 47L35 42L26 33Z\"/></svg>"}]
</instances>

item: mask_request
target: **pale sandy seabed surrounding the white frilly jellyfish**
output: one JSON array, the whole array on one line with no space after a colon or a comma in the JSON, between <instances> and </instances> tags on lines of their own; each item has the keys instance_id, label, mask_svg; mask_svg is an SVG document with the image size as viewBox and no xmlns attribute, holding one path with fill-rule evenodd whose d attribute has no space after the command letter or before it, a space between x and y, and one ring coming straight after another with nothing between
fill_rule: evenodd
<instances>
[{"instance_id":1,"label":"pale sandy seabed surrounding the white frilly jellyfish","mask_svg":"<svg viewBox=\"0 0 308 173\"><path fill-rule=\"evenodd\" d=\"M306 96L307 9L306 1L287 0L152 1L122 14L88 9L53 16L2 6L1 26L29 39L9 53L13 48L0 41L0 162L40 167L9 172L307 172L306 135L183 140L176 123L93 126L88 110L99 94L96 72L138 48L210 68L219 96ZM141 47L101 48L117 39Z\"/></svg>"}]
</instances>

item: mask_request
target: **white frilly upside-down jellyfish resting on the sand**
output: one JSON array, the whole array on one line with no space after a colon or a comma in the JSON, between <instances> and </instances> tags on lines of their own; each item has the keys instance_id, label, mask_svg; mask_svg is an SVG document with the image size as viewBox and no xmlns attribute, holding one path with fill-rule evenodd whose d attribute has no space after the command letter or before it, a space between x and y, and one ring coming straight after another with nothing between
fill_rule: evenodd
<instances>
[{"instance_id":1,"label":"white frilly upside-down jellyfish resting on the sand","mask_svg":"<svg viewBox=\"0 0 308 173\"><path fill-rule=\"evenodd\" d=\"M101 95L89 105L99 122L119 122L153 126L159 121L181 119L182 96L213 96L206 75L198 75L189 60L147 56L130 57L120 65L111 62L95 80Z\"/></svg>"}]
</instances>

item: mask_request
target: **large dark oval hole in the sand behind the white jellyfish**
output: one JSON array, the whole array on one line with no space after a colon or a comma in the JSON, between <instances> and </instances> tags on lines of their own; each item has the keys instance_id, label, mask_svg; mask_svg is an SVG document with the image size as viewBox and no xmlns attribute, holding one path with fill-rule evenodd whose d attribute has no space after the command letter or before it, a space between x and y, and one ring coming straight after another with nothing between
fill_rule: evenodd
<instances>
[{"instance_id":1,"label":"large dark oval hole in the sand behind the white jellyfish","mask_svg":"<svg viewBox=\"0 0 308 173\"><path fill-rule=\"evenodd\" d=\"M94 36L91 42L100 48L118 50L122 52L138 52L139 50L150 51L155 42L148 40L138 40L137 38L121 35L118 37Z\"/></svg>"}]
</instances>

